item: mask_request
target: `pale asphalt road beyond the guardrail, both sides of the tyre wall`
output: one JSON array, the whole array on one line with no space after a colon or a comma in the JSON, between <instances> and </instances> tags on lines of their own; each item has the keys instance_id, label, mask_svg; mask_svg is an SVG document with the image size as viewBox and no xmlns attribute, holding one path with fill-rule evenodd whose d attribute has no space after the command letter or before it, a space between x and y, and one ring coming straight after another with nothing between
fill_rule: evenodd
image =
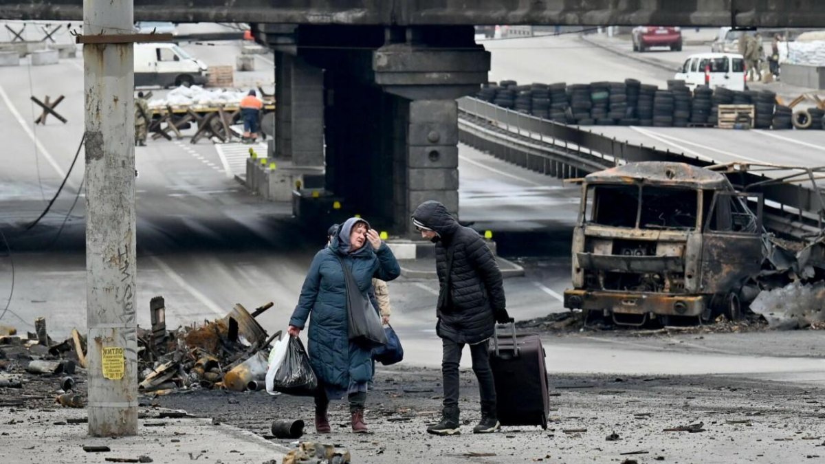
<instances>
[{"instance_id":1,"label":"pale asphalt road beyond the guardrail, both sides of the tyre wall","mask_svg":"<svg viewBox=\"0 0 825 464\"><path fill-rule=\"evenodd\" d=\"M624 81L667 88L678 64L688 55L708 51L705 45L685 46L681 52L653 50L644 54L617 54L592 45L576 35L540 36L523 39L486 40L492 54L491 81L513 79L518 83ZM620 45L607 43L611 49ZM655 57L673 64L673 71L642 63L634 57ZM778 85L778 84L777 84ZM823 166L823 130L723 130L704 128L654 128L588 126L588 130L634 144L669 149L672 152L713 159L718 163L775 163Z\"/></svg>"}]
</instances>

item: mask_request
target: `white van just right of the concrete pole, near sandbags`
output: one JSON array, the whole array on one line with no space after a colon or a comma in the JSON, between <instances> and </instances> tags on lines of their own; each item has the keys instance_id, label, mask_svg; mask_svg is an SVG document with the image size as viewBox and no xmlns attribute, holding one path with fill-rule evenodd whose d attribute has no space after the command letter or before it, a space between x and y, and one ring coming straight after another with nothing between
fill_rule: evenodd
<instances>
[{"instance_id":1,"label":"white van just right of the concrete pole, near sandbags","mask_svg":"<svg viewBox=\"0 0 825 464\"><path fill-rule=\"evenodd\" d=\"M134 44L134 85L186 86L206 82L206 64L175 44Z\"/></svg>"}]
</instances>

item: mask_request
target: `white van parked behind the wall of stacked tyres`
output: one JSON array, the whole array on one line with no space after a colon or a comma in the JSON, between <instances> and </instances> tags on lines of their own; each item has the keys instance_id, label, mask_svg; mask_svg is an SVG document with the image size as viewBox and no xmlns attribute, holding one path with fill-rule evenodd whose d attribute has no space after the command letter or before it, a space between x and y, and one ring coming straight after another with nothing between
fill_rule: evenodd
<instances>
[{"instance_id":1,"label":"white van parked behind the wall of stacked tyres","mask_svg":"<svg viewBox=\"0 0 825 464\"><path fill-rule=\"evenodd\" d=\"M691 54L673 78L685 81L687 87L707 85L709 88L745 90L745 59L736 53Z\"/></svg>"}]
</instances>

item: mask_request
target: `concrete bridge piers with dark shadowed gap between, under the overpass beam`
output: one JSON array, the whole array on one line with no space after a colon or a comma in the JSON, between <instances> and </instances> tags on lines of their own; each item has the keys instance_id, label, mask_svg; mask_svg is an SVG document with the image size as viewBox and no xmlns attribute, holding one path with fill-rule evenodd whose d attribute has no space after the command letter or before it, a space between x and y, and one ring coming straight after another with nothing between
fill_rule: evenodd
<instances>
[{"instance_id":1,"label":"concrete bridge piers with dark shadowed gap between, under the overpass beam","mask_svg":"<svg viewBox=\"0 0 825 464\"><path fill-rule=\"evenodd\" d=\"M472 26L252 24L276 54L276 159L395 234L422 201L458 211L455 99L487 80Z\"/></svg>"}]
</instances>

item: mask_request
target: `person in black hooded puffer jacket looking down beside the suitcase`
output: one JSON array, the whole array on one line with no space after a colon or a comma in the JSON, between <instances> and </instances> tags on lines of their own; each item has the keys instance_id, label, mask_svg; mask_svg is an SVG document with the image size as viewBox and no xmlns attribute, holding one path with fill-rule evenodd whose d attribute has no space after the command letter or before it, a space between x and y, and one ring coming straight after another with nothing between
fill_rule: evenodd
<instances>
[{"instance_id":1,"label":"person in black hooded puffer jacket looking down beside the suitcase","mask_svg":"<svg viewBox=\"0 0 825 464\"><path fill-rule=\"evenodd\" d=\"M425 239L436 243L439 293L436 334L444 351L444 411L441 422L427 428L436 435L460 433L459 362L464 344L469 344L473 372L479 380L481 422L473 433L491 433L500 428L496 416L496 388L487 352L496 321L507 315L502 272L484 239L464 227L438 201L424 201L413 213L413 225Z\"/></svg>"}]
</instances>

